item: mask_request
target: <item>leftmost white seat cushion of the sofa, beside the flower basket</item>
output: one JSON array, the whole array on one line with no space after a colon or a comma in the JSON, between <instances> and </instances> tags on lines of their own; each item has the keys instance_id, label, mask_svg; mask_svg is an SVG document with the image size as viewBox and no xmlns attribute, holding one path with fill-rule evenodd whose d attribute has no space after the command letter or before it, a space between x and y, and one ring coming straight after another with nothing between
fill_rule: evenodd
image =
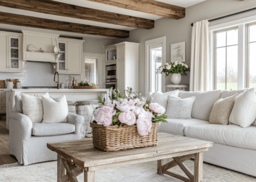
<instances>
[{"instance_id":1,"label":"leftmost white seat cushion of the sofa, beside the flower basket","mask_svg":"<svg viewBox=\"0 0 256 182\"><path fill-rule=\"evenodd\" d=\"M199 124L209 124L208 121L197 119L181 120L181 119L165 119L168 123L161 123L158 129L159 132L171 133L172 135L184 136L184 129L187 126Z\"/></svg>"}]
</instances>

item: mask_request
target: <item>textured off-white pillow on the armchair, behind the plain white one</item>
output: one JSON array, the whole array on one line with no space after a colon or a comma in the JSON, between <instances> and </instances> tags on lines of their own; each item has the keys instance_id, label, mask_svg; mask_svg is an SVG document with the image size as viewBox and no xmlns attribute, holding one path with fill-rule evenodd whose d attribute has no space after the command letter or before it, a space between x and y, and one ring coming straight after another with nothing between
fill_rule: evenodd
<instances>
[{"instance_id":1,"label":"textured off-white pillow on the armchair, behind the plain white one","mask_svg":"<svg viewBox=\"0 0 256 182\"><path fill-rule=\"evenodd\" d=\"M41 96L49 98L49 93L44 93L44 95ZM43 103L41 96L21 93L23 113L30 118L32 123L41 123L43 121Z\"/></svg>"}]
</instances>

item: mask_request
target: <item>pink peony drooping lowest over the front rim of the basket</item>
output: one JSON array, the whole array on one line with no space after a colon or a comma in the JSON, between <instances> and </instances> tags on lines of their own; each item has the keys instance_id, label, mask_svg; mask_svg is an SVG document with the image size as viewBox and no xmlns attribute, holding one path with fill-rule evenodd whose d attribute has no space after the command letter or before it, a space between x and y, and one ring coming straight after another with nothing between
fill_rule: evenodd
<instances>
[{"instance_id":1,"label":"pink peony drooping lowest over the front rim of the basket","mask_svg":"<svg viewBox=\"0 0 256 182\"><path fill-rule=\"evenodd\" d=\"M152 127L152 113L143 112L138 116L137 129L140 135L148 135Z\"/></svg>"}]
</instances>

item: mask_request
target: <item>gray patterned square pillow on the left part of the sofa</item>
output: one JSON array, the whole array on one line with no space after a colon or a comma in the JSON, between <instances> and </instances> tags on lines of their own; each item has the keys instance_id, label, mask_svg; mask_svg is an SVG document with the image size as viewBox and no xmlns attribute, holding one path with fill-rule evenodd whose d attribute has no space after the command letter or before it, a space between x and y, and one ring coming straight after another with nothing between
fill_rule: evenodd
<instances>
[{"instance_id":1,"label":"gray patterned square pillow on the left part of the sofa","mask_svg":"<svg viewBox=\"0 0 256 182\"><path fill-rule=\"evenodd\" d=\"M172 119L191 119L191 111L195 100L195 96L182 99L168 95L166 115Z\"/></svg>"}]
</instances>

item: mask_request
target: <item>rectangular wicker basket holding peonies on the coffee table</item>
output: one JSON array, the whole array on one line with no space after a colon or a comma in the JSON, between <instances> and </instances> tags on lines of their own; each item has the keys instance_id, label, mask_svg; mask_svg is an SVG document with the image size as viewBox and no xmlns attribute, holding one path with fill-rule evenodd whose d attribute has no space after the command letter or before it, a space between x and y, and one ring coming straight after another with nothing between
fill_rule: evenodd
<instances>
[{"instance_id":1,"label":"rectangular wicker basket holding peonies on the coffee table","mask_svg":"<svg viewBox=\"0 0 256 182\"><path fill-rule=\"evenodd\" d=\"M160 122L152 123L151 132L141 136L137 126L120 127L118 125L105 127L91 123L93 129L93 146L104 151L127 150L138 147L157 145L157 133Z\"/></svg>"}]
</instances>

